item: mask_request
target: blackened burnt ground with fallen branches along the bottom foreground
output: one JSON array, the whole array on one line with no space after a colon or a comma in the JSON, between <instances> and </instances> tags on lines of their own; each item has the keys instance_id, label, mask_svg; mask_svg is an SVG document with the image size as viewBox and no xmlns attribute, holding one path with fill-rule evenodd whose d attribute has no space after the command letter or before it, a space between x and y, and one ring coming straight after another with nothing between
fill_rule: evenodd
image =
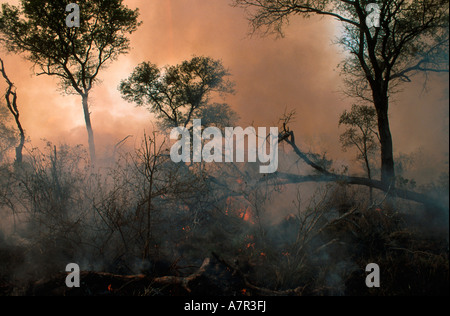
<instances>
[{"instance_id":1,"label":"blackened burnt ground with fallen branches along the bottom foreground","mask_svg":"<svg viewBox=\"0 0 450 316\"><path fill-rule=\"evenodd\" d=\"M310 242L313 245L320 242L321 247L315 246L314 252L307 251L303 257L283 253L277 258L270 252L262 253L255 243L233 255L211 251L203 264L203 259L189 266L161 261L158 264L162 268L158 271L139 275L83 271L81 287L73 289L65 286L65 272L43 278L10 278L5 272L8 267L23 264L25 248L3 245L0 248L3 269L0 295L449 295L448 230L438 227L424 230L420 222L407 221L404 216L389 215L389 221L386 218L372 211L355 212L345 221L333 221ZM295 227L296 222L289 218L280 225L282 232L288 234L289 227ZM279 228L276 231L279 233ZM279 237L288 238L287 235ZM266 246L277 249L276 238L270 236L270 239L274 243ZM294 259L303 262L295 269L292 268ZM381 267L380 288L369 289L365 285L365 266L371 262Z\"/></svg>"}]
</instances>

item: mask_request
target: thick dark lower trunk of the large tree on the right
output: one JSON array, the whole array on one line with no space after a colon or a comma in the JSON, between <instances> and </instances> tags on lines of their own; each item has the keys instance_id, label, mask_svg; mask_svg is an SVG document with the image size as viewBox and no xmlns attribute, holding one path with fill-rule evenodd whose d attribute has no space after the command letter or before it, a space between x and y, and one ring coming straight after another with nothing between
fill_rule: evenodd
<instances>
[{"instance_id":1,"label":"thick dark lower trunk of the large tree on the right","mask_svg":"<svg viewBox=\"0 0 450 316\"><path fill-rule=\"evenodd\" d=\"M381 145L381 182L392 189L395 187L394 153L392 134L389 126L389 98L387 93L374 93L378 116L378 131Z\"/></svg>"}]
</instances>

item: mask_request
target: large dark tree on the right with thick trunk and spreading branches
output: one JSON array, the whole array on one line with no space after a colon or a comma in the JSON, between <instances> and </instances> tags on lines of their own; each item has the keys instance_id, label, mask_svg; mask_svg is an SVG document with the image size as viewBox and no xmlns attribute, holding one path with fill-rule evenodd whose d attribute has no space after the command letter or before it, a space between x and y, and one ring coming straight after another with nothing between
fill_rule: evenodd
<instances>
[{"instance_id":1,"label":"large dark tree on the right with thick trunk and spreading branches","mask_svg":"<svg viewBox=\"0 0 450 316\"><path fill-rule=\"evenodd\" d=\"M369 3L359 0L233 0L247 9L254 30L282 34L291 16L321 15L342 22L338 42L347 54L342 65L349 94L374 104L381 143L381 178L395 179L389 126L389 97L420 72L448 72L446 0L386 0L379 3L379 27L367 23Z\"/></svg>"}]
</instances>

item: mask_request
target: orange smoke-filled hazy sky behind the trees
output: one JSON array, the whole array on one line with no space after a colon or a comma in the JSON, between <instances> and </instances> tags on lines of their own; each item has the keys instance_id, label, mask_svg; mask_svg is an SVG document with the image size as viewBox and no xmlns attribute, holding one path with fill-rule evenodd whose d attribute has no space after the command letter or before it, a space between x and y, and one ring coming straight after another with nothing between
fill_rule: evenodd
<instances>
[{"instance_id":1,"label":"orange smoke-filled hazy sky behind the trees","mask_svg":"<svg viewBox=\"0 0 450 316\"><path fill-rule=\"evenodd\" d=\"M0 1L0 3L17 1ZM193 55L221 59L236 82L236 94L225 100L241 116L243 127L275 126L285 108L296 109L292 126L305 149L339 154L339 115L351 107L344 99L337 70L341 56L332 44L336 28L330 19L294 18L286 37L249 37L242 9L228 0L126 0L139 7L143 25L132 36L132 51L103 70L91 94L92 123L98 151L127 135L139 138L151 129L152 116L122 100L117 86L143 61L176 64ZM23 126L32 144L53 142L87 145L81 99L63 96L56 79L36 77L31 64L0 50L15 82ZM396 152L427 153L431 165L448 160L448 75L405 86L391 105ZM0 83L1 91L4 82ZM432 155L428 155L432 153ZM443 165L444 166L444 165ZM446 167L448 168L448 166Z\"/></svg>"}]
</instances>

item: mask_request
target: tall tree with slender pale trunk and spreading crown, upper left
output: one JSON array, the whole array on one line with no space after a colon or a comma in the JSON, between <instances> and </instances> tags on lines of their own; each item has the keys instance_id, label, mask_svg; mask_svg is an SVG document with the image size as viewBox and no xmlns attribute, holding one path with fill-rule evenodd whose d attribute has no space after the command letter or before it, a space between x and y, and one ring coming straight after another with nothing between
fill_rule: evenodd
<instances>
[{"instance_id":1,"label":"tall tree with slender pale trunk and spreading crown, upper left","mask_svg":"<svg viewBox=\"0 0 450 316\"><path fill-rule=\"evenodd\" d=\"M21 0L2 5L0 40L14 53L25 53L36 74L56 76L67 94L78 94L95 162L94 132L88 97L109 61L129 51L128 35L139 26L138 10L122 0L79 0L80 27L67 27L65 0Z\"/></svg>"}]
</instances>

